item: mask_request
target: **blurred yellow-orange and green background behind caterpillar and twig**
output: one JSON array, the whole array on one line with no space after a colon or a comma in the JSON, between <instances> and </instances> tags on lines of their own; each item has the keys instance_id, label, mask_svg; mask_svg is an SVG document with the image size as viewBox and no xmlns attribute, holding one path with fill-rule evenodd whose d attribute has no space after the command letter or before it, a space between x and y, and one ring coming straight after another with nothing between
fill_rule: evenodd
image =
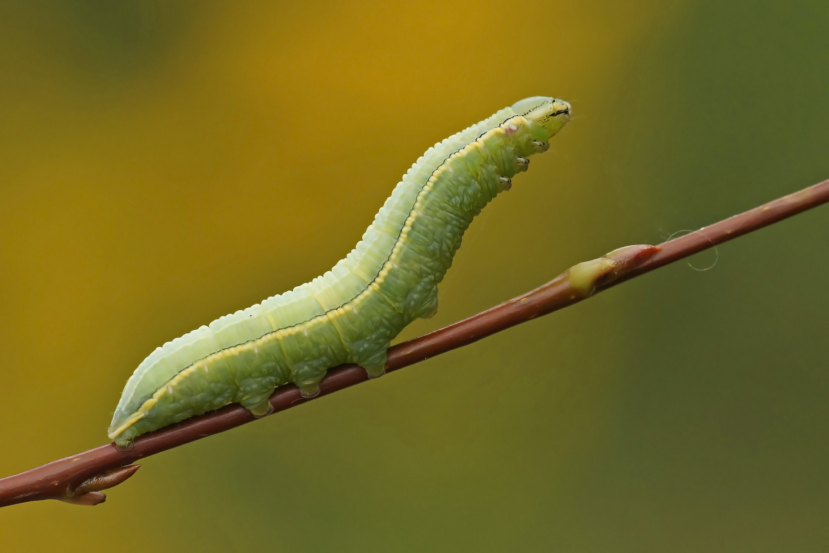
<instances>
[{"instance_id":1,"label":"blurred yellow-orange and green background behind caterpillar and twig","mask_svg":"<svg viewBox=\"0 0 829 553\"><path fill-rule=\"evenodd\" d=\"M829 3L0 3L0 475L528 95L575 117L403 337L829 177ZM0 551L827 551L827 220L2 509Z\"/></svg>"}]
</instances>

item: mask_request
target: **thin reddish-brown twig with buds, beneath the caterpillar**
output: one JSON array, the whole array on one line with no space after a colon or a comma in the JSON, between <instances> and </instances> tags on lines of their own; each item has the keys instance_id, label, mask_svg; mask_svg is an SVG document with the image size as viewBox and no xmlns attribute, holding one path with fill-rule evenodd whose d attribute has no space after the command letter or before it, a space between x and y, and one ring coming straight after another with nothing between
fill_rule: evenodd
<instances>
[{"instance_id":1,"label":"thin reddish-brown twig with buds, beneath the caterpillar","mask_svg":"<svg viewBox=\"0 0 829 553\"><path fill-rule=\"evenodd\" d=\"M487 337L532 318L552 313L593 293L647 273L701 250L771 225L829 201L829 181L820 182L789 196L770 201L715 225L668 240L662 245L633 245L614 250L597 260L574 265L540 288L487 309L473 317L403 342L389 350L386 371L396 371L429 357ZM366 381L359 366L342 365L320 383L322 395ZM286 410L309 400L296 386L282 386L270 396L274 412ZM157 454L224 432L255 420L241 405L227 405L206 415L173 424L135 440L133 449L120 451L114 444L102 445L84 453L62 458L24 473L0 479L0 507L41 499L61 499L80 505L104 501L101 490L112 488L132 476L140 458Z\"/></svg>"}]
</instances>

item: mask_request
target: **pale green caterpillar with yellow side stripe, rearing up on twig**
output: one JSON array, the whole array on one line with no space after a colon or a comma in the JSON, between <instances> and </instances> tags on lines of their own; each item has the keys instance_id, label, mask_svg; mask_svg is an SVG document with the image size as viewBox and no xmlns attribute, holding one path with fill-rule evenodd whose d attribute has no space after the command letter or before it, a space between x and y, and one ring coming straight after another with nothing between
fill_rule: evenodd
<instances>
[{"instance_id":1,"label":"pale green caterpillar with yellow side stripe, rearing up on twig","mask_svg":"<svg viewBox=\"0 0 829 553\"><path fill-rule=\"evenodd\" d=\"M570 113L560 99L522 99L426 150L330 271L156 348L129 377L109 439L128 448L230 403L269 415L277 386L293 382L313 397L342 363L381 376L391 340L437 311L437 285L473 217L549 148Z\"/></svg>"}]
</instances>

